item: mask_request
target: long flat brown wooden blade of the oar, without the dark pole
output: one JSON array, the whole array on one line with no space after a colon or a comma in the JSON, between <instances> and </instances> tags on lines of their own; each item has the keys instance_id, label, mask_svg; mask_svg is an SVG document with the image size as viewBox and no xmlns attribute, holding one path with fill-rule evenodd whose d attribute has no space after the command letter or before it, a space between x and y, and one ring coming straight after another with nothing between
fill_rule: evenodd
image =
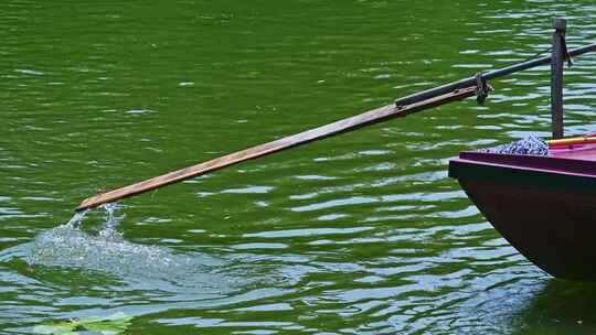
<instances>
[{"instance_id":1,"label":"long flat brown wooden blade of the oar, without the dark pole","mask_svg":"<svg viewBox=\"0 0 596 335\"><path fill-rule=\"evenodd\" d=\"M243 151L231 153L204 163L200 163L187 169L173 171L164 175L156 176L150 180L139 182L126 187L121 187L115 191L110 191L104 194L99 194L89 197L78 207L76 210L83 210L94 208L103 204L111 203L125 197L129 197L136 194L140 194L147 191L156 190L178 183L188 179L192 179L199 175L213 172L225 166L234 165L240 162L248 161L259 156L264 156L274 152L278 152L288 148L297 147L316 140L324 139L334 134L339 134L345 131L354 130L363 126L377 123L395 117L405 117L409 114L422 111L428 108L445 105L450 101L461 100L473 96L476 94L476 85L455 89L450 93L427 98L422 101L413 102L409 105L389 105L377 109L373 109L361 115L347 118L343 120L329 123L319 128L307 130L290 137L286 137L273 142L253 147Z\"/></svg>"}]
</instances>

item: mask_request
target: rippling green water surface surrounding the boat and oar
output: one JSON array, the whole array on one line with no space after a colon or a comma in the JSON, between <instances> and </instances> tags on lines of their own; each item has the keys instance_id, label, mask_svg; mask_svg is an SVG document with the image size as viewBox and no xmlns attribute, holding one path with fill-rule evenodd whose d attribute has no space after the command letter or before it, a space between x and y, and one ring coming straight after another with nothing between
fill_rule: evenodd
<instances>
[{"instance_id":1,"label":"rippling green water surface surrounding the boat and oar","mask_svg":"<svg viewBox=\"0 0 596 335\"><path fill-rule=\"evenodd\" d=\"M594 42L593 1L2 1L0 333L595 334L596 287L530 263L446 173L550 134L549 67L61 226L99 191L526 60L557 15ZM595 131L596 56L565 80L567 133Z\"/></svg>"}]
</instances>

